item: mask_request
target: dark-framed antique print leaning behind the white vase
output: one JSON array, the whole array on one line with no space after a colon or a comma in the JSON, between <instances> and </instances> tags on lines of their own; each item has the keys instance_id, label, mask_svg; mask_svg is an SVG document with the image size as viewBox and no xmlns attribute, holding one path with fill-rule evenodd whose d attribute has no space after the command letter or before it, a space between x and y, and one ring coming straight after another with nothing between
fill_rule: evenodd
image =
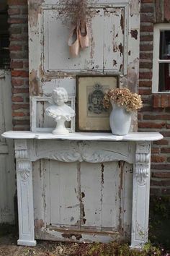
<instances>
[{"instance_id":1,"label":"dark-framed antique print leaning behind the white vase","mask_svg":"<svg viewBox=\"0 0 170 256\"><path fill-rule=\"evenodd\" d=\"M76 77L76 131L109 132L110 109L102 105L104 93L117 88L119 77L116 75L95 75Z\"/></svg>"}]
</instances>

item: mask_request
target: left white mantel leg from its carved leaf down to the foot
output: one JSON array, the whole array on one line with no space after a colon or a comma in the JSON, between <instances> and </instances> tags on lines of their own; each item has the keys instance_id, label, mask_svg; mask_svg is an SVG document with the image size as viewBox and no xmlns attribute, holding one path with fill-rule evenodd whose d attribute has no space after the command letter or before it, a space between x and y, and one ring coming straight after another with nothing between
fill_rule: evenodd
<instances>
[{"instance_id":1,"label":"left white mantel leg from its carved leaf down to the foot","mask_svg":"<svg viewBox=\"0 0 170 256\"><path fill-rule=\"evenodd\" d=\"M19 239L17 244L35 246L32 163L17 161Z\"/></svg>"}]
</instances>

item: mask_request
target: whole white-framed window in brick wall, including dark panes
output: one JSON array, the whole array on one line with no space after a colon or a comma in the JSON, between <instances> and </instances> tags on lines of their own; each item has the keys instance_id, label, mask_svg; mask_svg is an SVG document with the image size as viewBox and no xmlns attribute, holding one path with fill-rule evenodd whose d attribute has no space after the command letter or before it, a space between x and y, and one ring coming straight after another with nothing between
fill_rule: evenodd
<instances>
[{"instance_id":1,"label":"whole white-framed window in brick wall, including dark panes","mask_svg":"<svg viewBox=\"0 0 170 256\"><path fill-rule=\"evenodd\" d=\"M170 93L170 24L153 30L153 93Z\"/></svg>"}]
</instances>

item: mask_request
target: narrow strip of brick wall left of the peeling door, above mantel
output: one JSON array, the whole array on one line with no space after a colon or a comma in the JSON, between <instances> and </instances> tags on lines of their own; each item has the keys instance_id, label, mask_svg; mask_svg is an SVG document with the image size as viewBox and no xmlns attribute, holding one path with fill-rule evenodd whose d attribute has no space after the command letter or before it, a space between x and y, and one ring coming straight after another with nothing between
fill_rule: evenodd
<instances>
[{"instance_id":1,"label":"narrow strip of brick wall left of the peeling door, above mantel","mask_svg":"<svg viewBox=\"0 0 170 256\"><path fill-rule=\"evenodd\" d=\"M30 129L27 0L8 0L14 130Z\"/></svg>"}]
</instances>

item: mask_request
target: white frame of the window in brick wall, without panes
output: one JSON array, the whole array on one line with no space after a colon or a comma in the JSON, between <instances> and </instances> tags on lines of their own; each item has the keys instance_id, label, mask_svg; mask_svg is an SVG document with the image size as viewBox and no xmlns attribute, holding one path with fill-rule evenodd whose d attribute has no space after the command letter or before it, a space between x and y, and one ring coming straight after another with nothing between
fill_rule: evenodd
<instances>
[{"instance_id":1,"label":"white frame of the window in brick wall, without panes","mask_svg":"<svg viewBox=\"0 0 170 256\"><path fill-rule=\"evenodd\" d=\"M153 27L153 77L152 77L152 93L170 93L170 90L158 91L158 82L159 82L159 64L160 63L169 63L170 59L159 59L160 52L160 33L161 31L169 30L169 23L159 23L155 24Z\"/></svg>"}]
</instances>

